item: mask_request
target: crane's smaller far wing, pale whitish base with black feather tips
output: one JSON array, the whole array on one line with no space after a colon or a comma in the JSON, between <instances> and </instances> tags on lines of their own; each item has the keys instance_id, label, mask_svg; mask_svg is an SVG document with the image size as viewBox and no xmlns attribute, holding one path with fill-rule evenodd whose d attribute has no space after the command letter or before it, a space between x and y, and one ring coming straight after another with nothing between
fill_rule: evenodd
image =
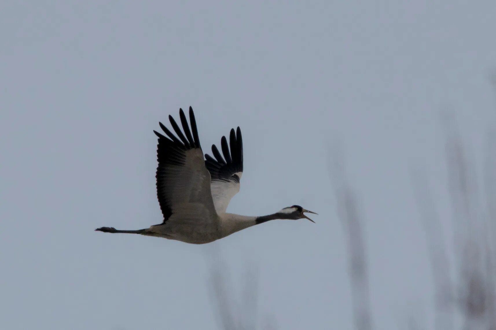
<instances>
[{"instance_id":1,"label":"crane's smaller far wing, pale whitish base with black feather tips","mask_svg":"<svg viewBox=\"0 0 496 330\"><path fill-rule=\"evenodd\" d=\"M210 189L217 213L226 212L231 198L240 191L240 179L243 175L243 139L239 127L236 133L231 129L229 145L226 137L222 137L221 149L225 159L222 158L215 144L212 144L212 154L215 159L205 154L205 166L212 177Z\"/></svg>"}]
</instances>

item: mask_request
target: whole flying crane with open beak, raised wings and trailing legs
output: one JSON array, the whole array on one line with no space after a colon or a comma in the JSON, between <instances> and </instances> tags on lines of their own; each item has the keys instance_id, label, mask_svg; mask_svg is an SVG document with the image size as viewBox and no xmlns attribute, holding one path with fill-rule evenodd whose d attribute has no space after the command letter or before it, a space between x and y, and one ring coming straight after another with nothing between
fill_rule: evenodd
<instances>
[{"instance_id":1,"label":"whole flying crane with open beak, raised wings and trailing legs","mask_svg":"<svg viewBox=\"0 0 496 330\"><path fill-rule=\"evenodd\" d=\"M239 127L236 132L231 130L229 145L226 137L222 137L221 149L224 157L215 144L212 145L214 158L208 154L203 155L191 107L191 130L182 109L180 118L184 134L174 118L169 116L179 139L162 123L159 125L167 137L154 131L158 136L157 197L164 215L163 222L140 230L101 227L96 231L140 234L204 244L269 220L306 218L313 222L303 213L316 213L299 205L260 217L226 213L231 198L240 190L243 175L241 130Z\"/></svg>"}]
</instances>

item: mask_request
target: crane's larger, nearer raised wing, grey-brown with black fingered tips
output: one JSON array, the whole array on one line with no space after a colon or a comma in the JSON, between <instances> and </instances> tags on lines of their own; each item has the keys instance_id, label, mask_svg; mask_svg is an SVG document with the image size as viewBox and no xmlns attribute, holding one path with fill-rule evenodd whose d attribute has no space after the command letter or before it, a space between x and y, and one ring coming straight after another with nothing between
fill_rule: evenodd
<instances>
[{"instance_id":1,"label":"crane's larger, nearer raised wing, grey-brown with black fingered tips","mask_svg":"<svg viewBox=\"0 0 496 330\"><path fill-rule=\"evenodd\" d=\"M159 123L160 128L168 138L153 131L158 136L158 201L164 215L164 223L169 220L182 224L208 225L218 217L210 192L210 174L203 160L193 109L189 107L191 131L183 109L179 110L179 115L186 137L172 116L169 116L169 121L179 139L162 123Z\"/></svg>"}]
</instances>

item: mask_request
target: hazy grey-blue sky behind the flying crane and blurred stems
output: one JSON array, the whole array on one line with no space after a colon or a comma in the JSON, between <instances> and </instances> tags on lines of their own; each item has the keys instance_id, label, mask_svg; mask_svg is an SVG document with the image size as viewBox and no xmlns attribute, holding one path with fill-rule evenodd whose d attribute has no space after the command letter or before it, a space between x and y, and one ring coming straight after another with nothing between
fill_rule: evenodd
<instances>
[{"instance_id":1,"label":"hazy grey-blue sky behind the flying crane and blurred stems","mask_svg":"<svg viewBox=\"0 0 496 330\"><path fill-rule=\"evenodd\" d=\"M444 110L481 153L495 119L495 13L491 0L2 1L2 329L218 329L212 246L93 231L161 222L152 130L189 105L205 151L243 130L245 173L228 211L320 214L212 244L234 278L259 268L261 319L352 328L327 174L338 141L362 197L374 325L395 329L418 312L429 326L409 166L446 204Z\"/></svg>"}]
</instances>

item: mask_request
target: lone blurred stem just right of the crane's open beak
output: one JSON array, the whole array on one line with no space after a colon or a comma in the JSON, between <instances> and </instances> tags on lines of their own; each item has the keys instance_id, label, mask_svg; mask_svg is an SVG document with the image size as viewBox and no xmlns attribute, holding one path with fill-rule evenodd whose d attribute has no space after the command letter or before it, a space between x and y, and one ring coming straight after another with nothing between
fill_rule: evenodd
<instances>
[{"instance_id":1,"label":"lone blurred stem just right of the crane's open beak","mask_svg":"<svg viewBox=\"0 0 496 330\"><path fill-rule=\"evenodd\" d=\"M372 318L369 271L362 230L364 224L356 194L346 180L343 153L338 152L336 148L334 151L333 157L330 157L329 168L338 215L343 223L345 235L348 237L348 262L355 328L357 330L370 330L372 329Z\"/></svg>"}]
</instances>

